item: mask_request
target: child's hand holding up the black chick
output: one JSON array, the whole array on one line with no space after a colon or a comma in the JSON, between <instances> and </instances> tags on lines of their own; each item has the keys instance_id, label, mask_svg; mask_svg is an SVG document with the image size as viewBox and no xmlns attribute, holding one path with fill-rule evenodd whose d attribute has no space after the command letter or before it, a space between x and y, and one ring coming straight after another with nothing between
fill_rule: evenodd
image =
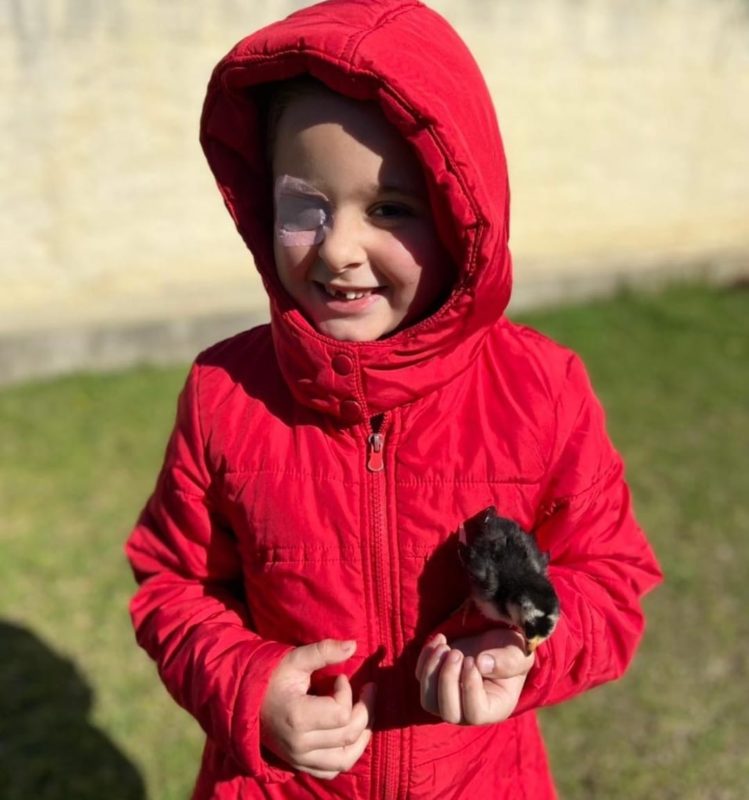
<instances>
[{"instance_id":1,"label":"child's hand holding up the black chick","mask_svg":"<svg viewBox=\"0 0 749 800\"><path fill-rule=\"evenodd\" d=\"M523 637L510 629L457 639L452 648L437 634L424 645L416 665L421 705L446 722L502 722L514 711L533 662Z\"/></svg>"}]
</instances>

